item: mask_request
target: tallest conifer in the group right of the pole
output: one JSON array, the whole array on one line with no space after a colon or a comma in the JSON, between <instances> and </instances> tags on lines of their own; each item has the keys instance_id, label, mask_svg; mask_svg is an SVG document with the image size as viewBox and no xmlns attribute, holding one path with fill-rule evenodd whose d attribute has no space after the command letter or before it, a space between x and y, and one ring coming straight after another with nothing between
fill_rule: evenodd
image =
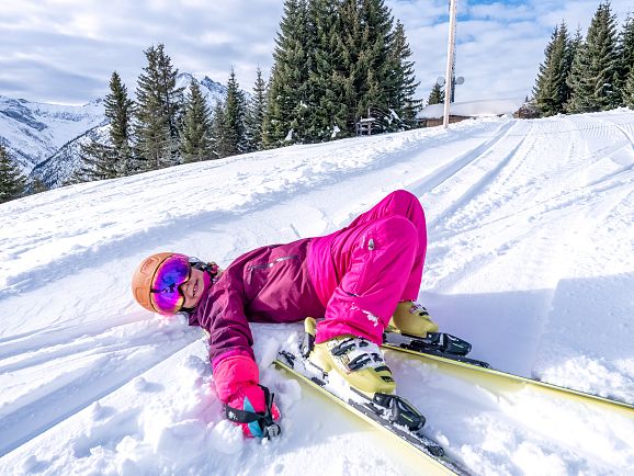
<instances>
[{"instance_id":1,"label":"tallest conifer in the group right of the pole","mask_svg":"<svg viewBox=\"0 0 634 476\"><path fill-rule=\"evenodd\" d=\"M609 1L599 4L568 78L570 113L604 111L618 104L615 16Z\"/></svg>"}]
</instances>

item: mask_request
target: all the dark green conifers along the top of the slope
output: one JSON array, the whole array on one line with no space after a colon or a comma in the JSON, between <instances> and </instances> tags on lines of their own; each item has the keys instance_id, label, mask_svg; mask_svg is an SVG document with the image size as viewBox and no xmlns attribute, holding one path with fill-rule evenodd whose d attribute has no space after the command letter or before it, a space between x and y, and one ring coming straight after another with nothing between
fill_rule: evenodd
<instances>
[{"instance_id":1,"label":"all the dark green conifers along the top of the slope","mask_svg":"<svg viewBox=\"0 0 634 476\"><path fill-rule=\"evenodd\" d=\"M383 0L285 0L268 81L258 68L247 97L231 70L225 97L211 107L196 81L177 86L165 45L144 53L134 100L112 73L107 137L81 147L71 182L349 137L361 117L374 117L380 131L403 131L421 106L404 26ZM610 1L599 4L585 38L558 24L544 55L531 100L541 115L634 107L634 18L618 32ZM428 104L443 101L435 84ZM0 144L0 203L25 190Z\"/></svg>"}]
</instances>

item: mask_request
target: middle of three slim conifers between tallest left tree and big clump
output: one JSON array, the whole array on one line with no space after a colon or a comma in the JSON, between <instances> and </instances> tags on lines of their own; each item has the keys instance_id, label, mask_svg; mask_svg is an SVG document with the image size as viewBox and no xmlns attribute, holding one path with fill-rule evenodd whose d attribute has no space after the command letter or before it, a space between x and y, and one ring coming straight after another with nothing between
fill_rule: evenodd
<instances>
[{"instance_id":1,"label":"middle of three slim conifers between tallest left tree and big clump","mask_svg":"<svg viewBox=\"0 0 634 476\"><path fill-rule=\"evenodd\" d=\"M222 129L223 137L217 144L219 157L236 156L247 150L247 135L245 118L247 101L245 93L236 80L234 68L227 81L227 97L225 98Z\"/></svg>"}]
</instances>

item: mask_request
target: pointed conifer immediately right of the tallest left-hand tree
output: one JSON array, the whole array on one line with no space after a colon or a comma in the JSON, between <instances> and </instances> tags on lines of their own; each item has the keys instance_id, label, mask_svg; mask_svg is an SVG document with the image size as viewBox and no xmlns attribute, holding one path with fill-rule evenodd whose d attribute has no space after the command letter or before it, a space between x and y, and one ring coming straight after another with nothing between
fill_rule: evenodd
<instances>
[{"instance_id":1,"label":"pointed conifer immediately right of the tallest left-hand tree","mask_svg":"<svg viewBox=\"0 0 634 476\"><path fill-rule=\"evenodd\" d=\"M181 157L184 163L217 158L212 136L210 106L197 81L190 84L181 131Z\"/></svg>"}]
</instances>

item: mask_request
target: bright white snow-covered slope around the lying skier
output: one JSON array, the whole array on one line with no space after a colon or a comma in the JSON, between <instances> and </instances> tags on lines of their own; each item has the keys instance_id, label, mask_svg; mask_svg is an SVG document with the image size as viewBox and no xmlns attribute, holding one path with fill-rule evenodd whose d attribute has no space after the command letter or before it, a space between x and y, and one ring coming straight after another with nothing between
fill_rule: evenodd
<instances>
[{"instance_id":1,"label":"bright white snow-covered slope around the lying skier","mask_svg":"<svg viewBox=\"0 0 634 476\"><path fill-rule=\"evenodd\" d=\"M222 417L197 329L140 309L147 254L220 264L326 234L406 189L429 220L420 301L497 369L634 403L634 112L293 146L0 205L0 473L412 474L365 423L270 364L301 325L254 325L281 439ZM475 474L622 475L634 418L493 395L395 352L398 392Z\"/></svg>"}]
</instances>

